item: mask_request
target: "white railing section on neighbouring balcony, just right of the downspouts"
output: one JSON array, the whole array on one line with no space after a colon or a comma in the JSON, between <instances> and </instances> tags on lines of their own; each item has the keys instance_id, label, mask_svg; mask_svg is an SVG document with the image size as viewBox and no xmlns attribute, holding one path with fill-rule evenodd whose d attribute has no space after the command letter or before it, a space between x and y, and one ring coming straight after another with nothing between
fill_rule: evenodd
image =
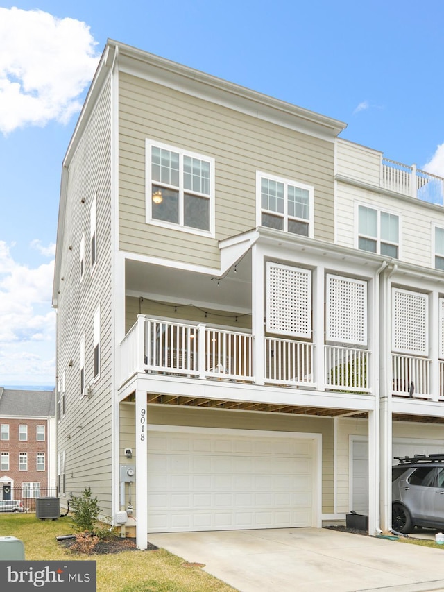
<instances>
[{"instance_id":1,"label":"white railing section on neighbouring balcony, just right of the downspouts","mask_svg":"<svg viewBox=\"0 0 444 592\"><path fill-rule=\"evenodd\" d=\"M432 360L410 355L391 355L392 394L432 398L430 365Z\"/></svg>"}]
</instances>

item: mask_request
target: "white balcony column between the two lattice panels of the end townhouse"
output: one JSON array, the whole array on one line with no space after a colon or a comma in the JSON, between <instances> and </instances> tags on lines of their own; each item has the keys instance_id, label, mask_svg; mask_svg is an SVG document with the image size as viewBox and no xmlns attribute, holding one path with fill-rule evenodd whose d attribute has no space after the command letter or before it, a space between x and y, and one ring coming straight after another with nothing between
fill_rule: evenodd
<instances>
[{"instance_id":1,"label":"white balcony column between the two lattice panels of the end townhouse","mask_svg":"<svg viewBox=\"0 0 444 592\"><path fill-rule=\"evenodd\" d=\"M314 382L318 389L325 387L324 324L325 324L325 269L318 265L314 272L313 286L313 344Z\"/></svg>"}]
</instances>

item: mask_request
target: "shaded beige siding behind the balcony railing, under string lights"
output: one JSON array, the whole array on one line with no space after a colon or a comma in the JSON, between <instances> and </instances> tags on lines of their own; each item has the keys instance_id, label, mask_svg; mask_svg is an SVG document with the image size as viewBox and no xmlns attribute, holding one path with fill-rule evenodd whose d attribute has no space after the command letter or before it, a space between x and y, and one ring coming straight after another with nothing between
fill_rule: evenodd
<instances>
[{"instance_id":1,"label":"shaded beige siding behind the balcony railing, under string lights","mask_svg":"<svg viewBox=\"0 0 444 592\"><path fill-rule=\"evenodd\" d=\"M137 321L137 314L160 316L162 318L174 319L175 321L177 319L178 323L205 323L209 326L223 325L239 331L251 328L250 314L236 315L226 310L214 310L210 308L204 310L203 308L192 305L178 305L175 311L175 305L172 303L162 304L158 301L136 298L135 296L126 296L125 310L125 331L127 333Z\"/></svg>"}]
</instances>

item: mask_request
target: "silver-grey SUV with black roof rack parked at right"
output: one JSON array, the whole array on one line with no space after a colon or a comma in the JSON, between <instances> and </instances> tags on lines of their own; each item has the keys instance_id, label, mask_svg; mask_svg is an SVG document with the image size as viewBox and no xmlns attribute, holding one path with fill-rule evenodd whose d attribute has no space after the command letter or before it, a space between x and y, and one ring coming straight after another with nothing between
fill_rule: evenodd
<instances>
[{"instance_id":1,"label":"silver-grey SUV with black roof rack parked at right","mask_svg":"<svg viewBox=\"0 0 444 592\"><path fill-rule=\"evenodd\" d=\"M392 468L392 527L444 529L444 455L395 457Z\"/></svg>"}]
</instances>

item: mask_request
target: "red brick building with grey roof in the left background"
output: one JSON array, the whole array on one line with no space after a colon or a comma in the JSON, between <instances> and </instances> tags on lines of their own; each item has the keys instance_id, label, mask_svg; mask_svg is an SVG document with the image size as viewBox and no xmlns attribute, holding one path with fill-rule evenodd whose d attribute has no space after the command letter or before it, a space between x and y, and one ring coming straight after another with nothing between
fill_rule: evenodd
<instances>
[{"instance_id":1,"label":"red brick building with grey roof in the left background","mask_svg":"<svg viewBox=\"0 0 444 592\"><path fill-rule=\"evenodd\" d=\"M0 500L39 497L56 486L55 409L54 391L0 387Z\"/></svg>"}]
</instances>

